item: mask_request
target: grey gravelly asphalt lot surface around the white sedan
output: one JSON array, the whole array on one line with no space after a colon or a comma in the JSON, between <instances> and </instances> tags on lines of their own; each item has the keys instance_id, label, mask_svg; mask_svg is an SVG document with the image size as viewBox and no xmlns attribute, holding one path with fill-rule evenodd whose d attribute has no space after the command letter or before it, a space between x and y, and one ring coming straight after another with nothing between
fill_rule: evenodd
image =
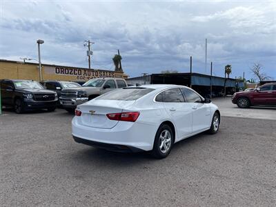
<instances>
[{"instance_id":1,"label":"grey gravelly asphalt lot surface around the white sedan","mask_svg":"<svg viewBox=\"0 0 276 207\"><path fill-rule=\"evenodd\" d=\"M276 121L222 117L157 160L77 144L71 119L4 111L1 206L276 206Z\"/></svg>"}]
</instances>

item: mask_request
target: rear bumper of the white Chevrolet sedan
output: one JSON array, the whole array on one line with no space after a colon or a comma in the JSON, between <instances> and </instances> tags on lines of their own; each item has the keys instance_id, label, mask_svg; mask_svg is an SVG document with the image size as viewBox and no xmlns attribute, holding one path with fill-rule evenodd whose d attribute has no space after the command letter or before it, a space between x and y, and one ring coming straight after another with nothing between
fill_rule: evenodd
<instances>
[{"instance_id":1,"label":"rear bumper of the white Chevrolet sedan","mask_svg":"<svg viewBox=\"0 0 276 207\"><path fill-rule=\"evenodd\" d=\"M118 148L119 150L128 148L130 151L152 150L157 128L158 126L151 124L128 121L119 121L113 128L93 128L83 126L79 117L72 119L72 136L79 138L77 142L94 146L100 143L115 150Z\"/></svg>"}]
</instances>

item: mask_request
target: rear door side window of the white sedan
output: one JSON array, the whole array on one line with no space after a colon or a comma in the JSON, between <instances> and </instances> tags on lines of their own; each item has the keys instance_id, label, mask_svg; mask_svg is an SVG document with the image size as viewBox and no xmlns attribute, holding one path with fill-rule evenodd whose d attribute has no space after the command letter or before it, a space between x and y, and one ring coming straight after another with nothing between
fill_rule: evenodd
<instances>
[{"instance_id":1,"label":"rear door side window of the white sedan","mask_svg":"<svg viewBox=\"0 0 276 207\"><path fill-rule=\"evenodd\" d=\"M184 97L179 88L171 88L161 92L155 98L157 102L184 102Z\"/></svg>"}]
</instances>

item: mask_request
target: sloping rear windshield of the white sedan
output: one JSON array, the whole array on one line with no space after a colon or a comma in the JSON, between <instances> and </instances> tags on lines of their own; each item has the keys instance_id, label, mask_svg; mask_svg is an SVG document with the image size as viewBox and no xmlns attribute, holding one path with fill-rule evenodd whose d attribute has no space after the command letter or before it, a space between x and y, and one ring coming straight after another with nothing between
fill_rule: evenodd
<instances>
[{"instance_id":1,"label":"sloping rear windshield of the white sedan","mask_svg":"<svg viewBox=\"0 0 276 207\"><path fill-rule=\"evenodd\" d=\"M134 101L152 92L152 88L121 88L97 98L100 100Z\"/></svg>"}]
</instances>

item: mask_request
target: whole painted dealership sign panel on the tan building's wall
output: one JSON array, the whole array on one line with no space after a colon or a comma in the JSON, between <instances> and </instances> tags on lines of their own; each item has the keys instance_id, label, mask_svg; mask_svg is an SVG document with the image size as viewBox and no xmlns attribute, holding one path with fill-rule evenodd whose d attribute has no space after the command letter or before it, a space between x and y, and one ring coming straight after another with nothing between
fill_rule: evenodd
<instances>
[{"instance_id":1,"label":"whole painted dealership sign panel on the tan building's wall","mask_svg":"<svg viewBox=\"0 0 276 207\"><path fill-rule=\"evenodd\" d=\"M77 80L88 80L96 77L119 77L123 78L124 73L109 70L92 70L83 68L70 68L61 66L44 66L44 71L48 74L70 75Z\"/></svg>"}]
</instances>

